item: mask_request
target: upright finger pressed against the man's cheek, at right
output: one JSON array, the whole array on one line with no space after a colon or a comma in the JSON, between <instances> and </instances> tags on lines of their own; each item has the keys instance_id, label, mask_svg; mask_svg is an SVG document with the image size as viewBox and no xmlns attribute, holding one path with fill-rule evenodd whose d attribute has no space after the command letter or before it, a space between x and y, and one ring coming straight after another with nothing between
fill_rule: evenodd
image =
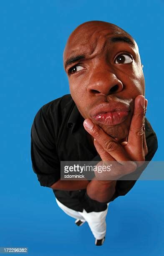
<instances>
[{"instance_id":1,"label":"upright finger pressed against the man's cheek, at right","mask_svg":"<svg viewBox=\"0 0 164 256\"><path fill-rule=\"evenodd\" d=\"M134 101L134 113L131 119L129 129L128 144L131 145L134 152L138 152L139 148L143 148L144 137L144 116L145 116L145 98L143 95L136 97Z\"/></svg>"}]
</instances>

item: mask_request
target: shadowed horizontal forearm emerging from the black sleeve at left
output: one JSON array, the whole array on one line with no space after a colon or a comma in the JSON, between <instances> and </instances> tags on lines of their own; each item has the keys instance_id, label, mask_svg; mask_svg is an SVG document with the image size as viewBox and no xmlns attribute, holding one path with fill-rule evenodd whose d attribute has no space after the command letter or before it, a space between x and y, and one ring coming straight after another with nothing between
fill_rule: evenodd
<instances>
[{"instance_id":1,"label":"shadowed horizontal forearm emerging from the black sleeve at left","mask_svg":"<svg viewBox=\"0 0 164 256\"><path fill-rule=\"evenodd\" d=\"M59 190L86 189L88 183L88 180L58 180L50 188Z\"/></svg>"}]
</instances>

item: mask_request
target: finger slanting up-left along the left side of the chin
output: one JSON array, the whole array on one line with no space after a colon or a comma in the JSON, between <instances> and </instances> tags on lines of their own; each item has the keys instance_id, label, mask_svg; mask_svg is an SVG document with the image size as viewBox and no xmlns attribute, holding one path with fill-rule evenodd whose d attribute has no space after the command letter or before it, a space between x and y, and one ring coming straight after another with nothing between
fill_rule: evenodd
<instances>
[{"instance_id":1,"label":"finger slanting up-left along the left side of the chin","mask_svg":"<svg viewBox=\"0 0 164 256\"><path fill-rule=\"evenodd\" d=\"M88 131L116 161L131 161L124 148L114 138L105 133L101 127L93 123L91 119L87 118L84 120L83 125L86 131Z\"/></svg>"}]
</instances>

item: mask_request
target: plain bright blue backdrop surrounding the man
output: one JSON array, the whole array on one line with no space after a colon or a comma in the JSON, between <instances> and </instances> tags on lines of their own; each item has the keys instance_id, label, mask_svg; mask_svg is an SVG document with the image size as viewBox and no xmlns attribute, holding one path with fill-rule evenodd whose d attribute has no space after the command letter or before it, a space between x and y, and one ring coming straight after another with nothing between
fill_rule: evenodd
<instances>
[{"instance_id":1,"label":"plain bright blue backdrop surrounding the man","mask_svg":"<svg viewBox=\"0 0 164 256\"><path fill-rule=\"evenodd\" d=\"M103 246L85 223L77 227L40 187L30 161L30 128L38 109L69 93L63 49L88 20L115 23L139 45L144 64L146 117L163 156L164 1L0 1L0 246L33 256L164 255L163 181L138 181L111 202Z\"/></svg>"}]
</instances>

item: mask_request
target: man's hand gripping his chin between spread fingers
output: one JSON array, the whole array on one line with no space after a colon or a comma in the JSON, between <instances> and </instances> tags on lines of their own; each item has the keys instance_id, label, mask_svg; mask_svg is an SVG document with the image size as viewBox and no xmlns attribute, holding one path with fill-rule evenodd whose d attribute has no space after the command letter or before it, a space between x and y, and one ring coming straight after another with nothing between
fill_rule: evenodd
<instances>
[{"instance_id":1,"label":"man's hand gripping his chin between spread fingers","mask_svg":"<svg viewBox=\"0 0 164 256\"><path fill-rule=\"evenodd\" d=\"M142 100L144 106L141 105ZM84 120L84 128L95 138L94 145L102 159L98 165L106 165L107 161L116 161L116 163L112 162L110 174L109 172L102 172L101 174L95 172L97 178L118 179L134 172L137 167L144 164L145 156L148 153L144 128L146 107L147 100L144 99L143 95L138 95L134 101L134 113L131 119L129 136L127 141L122 143L105 133L91 119ZM90 124L90 128L87 127L87 124Z\"/></svg>"}]
</instances>

